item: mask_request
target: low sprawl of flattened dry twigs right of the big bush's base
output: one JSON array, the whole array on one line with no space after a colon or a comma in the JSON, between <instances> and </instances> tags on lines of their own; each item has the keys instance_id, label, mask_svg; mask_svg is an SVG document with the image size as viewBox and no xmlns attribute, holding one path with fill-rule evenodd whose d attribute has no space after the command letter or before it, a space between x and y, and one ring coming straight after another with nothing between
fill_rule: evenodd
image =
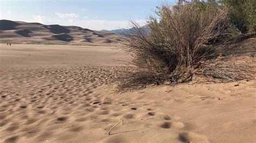
<instances>
[{"instance_id":1,"label":"low sprawl of flattened dry twigs right of the big bush's base","mask_svg":"<svg viewBox=\"0 0 256 143\"><path fill-rule=\"evenodd\" d=\"M249 56L224 56L201 62L200 70L209 81L233 82L251 79L255 71L255 63Z\"/></svg>"}]
</instances>

